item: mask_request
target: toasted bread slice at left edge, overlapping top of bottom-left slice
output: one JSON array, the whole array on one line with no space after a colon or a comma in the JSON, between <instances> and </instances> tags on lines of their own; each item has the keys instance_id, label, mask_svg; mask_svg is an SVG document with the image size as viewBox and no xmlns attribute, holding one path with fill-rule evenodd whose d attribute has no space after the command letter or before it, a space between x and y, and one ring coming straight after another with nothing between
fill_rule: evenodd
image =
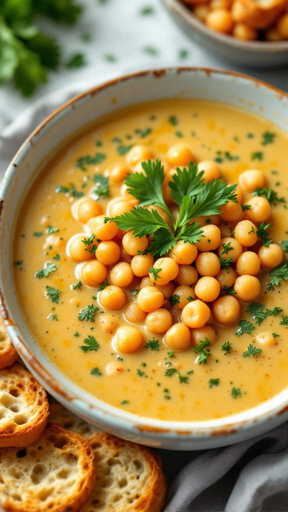
<instances>
[{"instance_id":1,"label":"toasted bread slice at left edge, overlapping top of bottom-left slice","mask_svg":"<svg viewBox=\"0 0 288 512\"><path fill-rule=\"evenodd\" d=\"M46 392L28 370L17 363L0 370L0 447L35 441L48 414Z\"/></svg>"}]
</instances>

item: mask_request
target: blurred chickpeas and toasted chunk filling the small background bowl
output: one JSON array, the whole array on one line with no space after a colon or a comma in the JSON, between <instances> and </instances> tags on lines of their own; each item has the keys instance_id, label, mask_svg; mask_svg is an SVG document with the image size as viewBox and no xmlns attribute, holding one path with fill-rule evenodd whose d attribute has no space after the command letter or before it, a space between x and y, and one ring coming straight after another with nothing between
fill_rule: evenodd
<instances>
[{"instance_id":1,"label":"blurred chickpeas and toasted chunk filling the small background bowl","mask_svg":"<svg viewBox=\"0 0 288 512\"><path fill-rule=\"evenodd\" d=\"M286 0L183 0L210 29L238 39L288 39Z\"/></svg>"}]
</instances>

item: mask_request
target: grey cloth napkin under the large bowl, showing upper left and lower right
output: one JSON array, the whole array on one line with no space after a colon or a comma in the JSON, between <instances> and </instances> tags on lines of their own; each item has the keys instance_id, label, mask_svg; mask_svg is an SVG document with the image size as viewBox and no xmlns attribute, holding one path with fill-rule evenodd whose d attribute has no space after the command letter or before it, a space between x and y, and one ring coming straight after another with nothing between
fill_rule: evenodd
<instances>
[{"instance_id":1,"label":"grey cloth napkin under the large bowl, showing upper left and lower right","mask_svg":"<svg viewBox=\"0 0 288 512\"><path fill-rule=\"evenodd\" d=\"M87 88L86 82L52 93L6 126L0 111L0 179L37 124ZM287 424L221 449L157 452L169 484L163 512L288 512Z\"/></svg>"}]
</instances>

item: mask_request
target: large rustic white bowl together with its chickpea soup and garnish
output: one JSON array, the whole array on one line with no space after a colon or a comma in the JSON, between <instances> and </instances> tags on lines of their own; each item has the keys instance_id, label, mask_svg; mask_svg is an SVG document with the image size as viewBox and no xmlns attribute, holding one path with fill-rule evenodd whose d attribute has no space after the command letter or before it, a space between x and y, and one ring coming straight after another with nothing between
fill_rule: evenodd
<instances>
[{"instance_id":1,"label":"large rustic white bowl together with its chickpea soup and garnish","mask_svg":"<svg viewBox=\"0 0 288 512\"><path fill-rule=\"evenodd\" d=\"M1 187L1 305L76 415L173 450L287 417L288 98L162 69L72 99Z\"/></svg>"}]
</instances>

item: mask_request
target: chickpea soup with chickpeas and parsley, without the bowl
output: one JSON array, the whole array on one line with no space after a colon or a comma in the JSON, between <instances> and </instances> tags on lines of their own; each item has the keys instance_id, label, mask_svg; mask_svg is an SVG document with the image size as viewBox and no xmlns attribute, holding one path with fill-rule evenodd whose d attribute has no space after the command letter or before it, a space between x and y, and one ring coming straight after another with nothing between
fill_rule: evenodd
<instances>
[{"instance_id":1,"label":"chickpea soup with chickpeas and parsley, without the bowl","mask_svg":"<svg viewBox=\"0 0 288 512\"><path fill-rule=\"evenodd\" d=\"M19 212L27 325L80 388L198 421L287 387L287 135L228 105L119 111L64 147Z\"/></svg>"}]
</instances>

